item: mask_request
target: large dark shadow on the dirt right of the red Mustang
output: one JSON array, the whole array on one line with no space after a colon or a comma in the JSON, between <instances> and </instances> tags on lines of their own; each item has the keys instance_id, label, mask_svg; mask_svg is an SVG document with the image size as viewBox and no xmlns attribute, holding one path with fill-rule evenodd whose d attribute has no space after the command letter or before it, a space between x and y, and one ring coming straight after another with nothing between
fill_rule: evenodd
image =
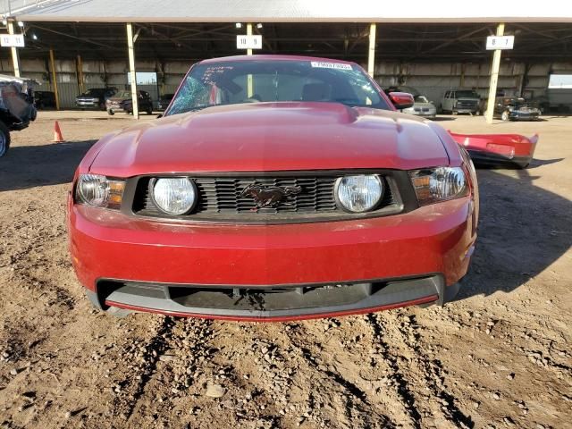
<instances>
[{"instance_id":1,"label":"large dark shadow on the dirt right of the red Mustang","mask_svg":"<svg viewBox=\"0 0 572 429\"><path fill-rule=\"evenodd\" d=\"M458 299L515 290L572 246L572 202L534 185L536 179L528 170L478 170L479 236Z\"/></svg>"}]
</instances>

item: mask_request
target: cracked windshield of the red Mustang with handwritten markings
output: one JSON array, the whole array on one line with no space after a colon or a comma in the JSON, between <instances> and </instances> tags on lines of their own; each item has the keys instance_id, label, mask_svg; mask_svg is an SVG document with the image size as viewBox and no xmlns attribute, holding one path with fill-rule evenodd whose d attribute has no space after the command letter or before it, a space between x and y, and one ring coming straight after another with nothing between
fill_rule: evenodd
<instances>
[{"instance_id":1,"label":"cracked windshield of the red Mustang with handwritten markings","mask_svg":"<svg viewBox=\"0 0 572 429\"><path fill-rule=\"evenodd\" d=\"M391 110L355 65L310 60L248 60L193 67L169 114L212 105L313 101Z\"/></svg>"}]
</instances>

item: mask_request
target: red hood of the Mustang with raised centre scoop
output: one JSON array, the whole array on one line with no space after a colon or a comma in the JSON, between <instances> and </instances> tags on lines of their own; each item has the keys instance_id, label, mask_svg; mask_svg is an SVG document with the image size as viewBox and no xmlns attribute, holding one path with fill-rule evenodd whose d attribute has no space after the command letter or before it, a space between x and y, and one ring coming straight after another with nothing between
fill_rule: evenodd
<instances>
[{"instance_id":1,"label":"red hood of the Mustang with raised centre scoop","mask_svg":"<svg viewBox=\"0 0 572 429\"><path fill-rule=\"evenodd\" d=\"M90 171L130 177L447 165L445 147L430 124L336 103L221 105L106 137Z\"/></svg>"}]
</instances>

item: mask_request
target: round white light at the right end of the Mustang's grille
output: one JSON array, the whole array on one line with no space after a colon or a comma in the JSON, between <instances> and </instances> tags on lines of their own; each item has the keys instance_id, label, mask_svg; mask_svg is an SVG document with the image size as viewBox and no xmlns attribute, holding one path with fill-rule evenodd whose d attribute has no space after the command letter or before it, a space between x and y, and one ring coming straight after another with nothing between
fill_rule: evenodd
<instances>
[{"instance_id":1,"label":"round white light at the right end of the Mustang's grille","mask_svg":"<svg viewBox=\"0 0 572 429\"><path fill-rule=\"evenodd\" d=\"M336 181L335 197L341 208L362 213L373 210L383 197L383 181L377 175L345 176Z\"/></svg>"}]
</instances>

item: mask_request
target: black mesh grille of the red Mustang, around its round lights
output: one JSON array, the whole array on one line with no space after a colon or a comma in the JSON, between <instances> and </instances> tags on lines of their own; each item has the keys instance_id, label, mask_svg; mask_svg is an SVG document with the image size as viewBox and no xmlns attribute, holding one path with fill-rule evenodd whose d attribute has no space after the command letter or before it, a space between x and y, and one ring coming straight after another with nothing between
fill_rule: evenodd
<instances>
[{"instance_id":1,"label":"black mesh grille of the red Mustang, around its round lights","mask_svg":"<svg viewBox=\"0 0 572 429\"><path fill-rule=\"evenodd\" d=\"M324 217L356 216L341 210L334 198L335 181L338 175L301 175L301 176L198 176L191 177L198 189L198 204L190 214L174 216L179 219L267 222L275 220L299 221L306 216L308 220ZM134 214L153 217L173 217L161 212L150 196L150 177L141 177L137 181L133 197ZM241 197L242 191L249 185L299 187L298 195L283 199L275 207L257 208L252 197ZM400 212L399 192L394 181L383 176L384 194L381 204L369 214L383 215Z\"/></svg>"}]
</instances>

